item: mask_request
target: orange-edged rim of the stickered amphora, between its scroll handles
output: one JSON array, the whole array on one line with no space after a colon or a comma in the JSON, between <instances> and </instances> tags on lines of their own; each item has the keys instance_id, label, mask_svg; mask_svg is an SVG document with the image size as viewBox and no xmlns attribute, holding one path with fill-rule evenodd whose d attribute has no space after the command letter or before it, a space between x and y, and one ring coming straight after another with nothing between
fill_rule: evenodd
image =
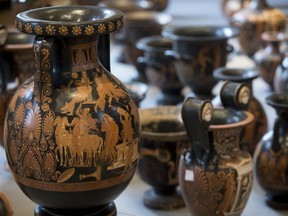
<instances>
[{"instance_id":1,"label":"orange-edged rim of the stickered amphora, between its scroll handles","mask_svg":"<svg viewBox=\"0 0 288 216\"><path fill-rule=\"evenodd\" d=\"M227 123L220 123L220 124L215 124L213 121L215 120L215 113L216 112L228 112L231 114L231 119L227 121ZM221 114L220 114L221 115ZM236 119L235 117L238 117ZM250 122L252 122L254 119L253 114L247 111L236 111L232 109L214 109L212 120L211 120L211 125L209 125L209 130L219 130L219 129L232 129L232 128L238 128L238 127L243 127Z\"/></svg>"}]
</instances>

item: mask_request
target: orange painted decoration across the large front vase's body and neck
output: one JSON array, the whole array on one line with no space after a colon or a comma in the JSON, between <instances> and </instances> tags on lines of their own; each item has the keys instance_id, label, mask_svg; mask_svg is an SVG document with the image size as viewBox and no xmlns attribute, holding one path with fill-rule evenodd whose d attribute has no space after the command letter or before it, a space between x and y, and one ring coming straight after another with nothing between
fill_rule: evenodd
<instances>
[{"instance_id":1,"label":"orange painted decoration across the large front vase's body and neck","mask_svg":"<svg viewBox=\"0 0 288 216\"><path fill-rule=\"evenodd\" d=\"M133 176L139 157L137 107L125 87L100 66L95 45L69 47L72 73L63 76L70 81L56 86L49 73L51 53L34 45L34 79L15 93L5 124L7 159L18 183L85 191Z\"/></svg>"}]
</instances>

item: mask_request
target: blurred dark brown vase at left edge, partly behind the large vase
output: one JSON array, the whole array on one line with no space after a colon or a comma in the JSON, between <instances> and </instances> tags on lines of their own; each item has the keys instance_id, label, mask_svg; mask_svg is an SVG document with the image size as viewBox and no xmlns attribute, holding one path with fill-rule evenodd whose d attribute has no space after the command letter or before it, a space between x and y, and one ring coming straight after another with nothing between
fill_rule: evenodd
<instances>
[{"instance_id":1,"label":"blurred dark brown vase at left edge, partly behind the large vase","mask_svg":"<svg viewBox=\"0 0 288 216\"><path fill-rule=\"evenodd\" d=\"M3 130L8 104L15 90L34 73L32 35L9 32L5 45L0 50L0 145L4 144Z\"/></svg>"}]
</instances>

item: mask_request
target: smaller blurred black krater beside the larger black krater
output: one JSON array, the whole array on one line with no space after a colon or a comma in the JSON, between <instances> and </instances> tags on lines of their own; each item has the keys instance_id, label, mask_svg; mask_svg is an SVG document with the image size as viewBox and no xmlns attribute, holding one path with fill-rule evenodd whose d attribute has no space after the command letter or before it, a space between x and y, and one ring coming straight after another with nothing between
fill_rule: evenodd
<instances>
[{"instance_id":1,"label":"smaller blurred black krater beside the larger black krater","mask_svg":"<svg viewBox=\"0 0 288 216\"><path fill-rule=\"evenodd\" d=\"M179 81L175 71L175 58L166 55L172 49L172 40L162 36L145 37L137 41L138 49L144 56L138 58L139 64L145 64L146 77L151 85L162 92L158 95L160 105L175 105L184 100L181 91L184 85Z\"/></svg>"}]
</instances>

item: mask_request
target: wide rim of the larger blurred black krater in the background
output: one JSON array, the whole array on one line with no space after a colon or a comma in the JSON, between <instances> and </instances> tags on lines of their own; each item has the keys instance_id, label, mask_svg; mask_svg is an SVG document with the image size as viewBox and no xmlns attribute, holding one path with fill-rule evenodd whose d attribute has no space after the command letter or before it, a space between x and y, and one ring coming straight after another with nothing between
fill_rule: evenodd
<instances>
[{"instance_id":1,"label":"wide rim of the larger blurred black krater in the background","mask_svg":"<svg viewBox=\"0 0 288 216\"><path fill-rule=\"evenodd\" d=\"M239 34L233 26L167 26L162 35L174 41L219 41Z\"/></svg>"}]
</instances>

